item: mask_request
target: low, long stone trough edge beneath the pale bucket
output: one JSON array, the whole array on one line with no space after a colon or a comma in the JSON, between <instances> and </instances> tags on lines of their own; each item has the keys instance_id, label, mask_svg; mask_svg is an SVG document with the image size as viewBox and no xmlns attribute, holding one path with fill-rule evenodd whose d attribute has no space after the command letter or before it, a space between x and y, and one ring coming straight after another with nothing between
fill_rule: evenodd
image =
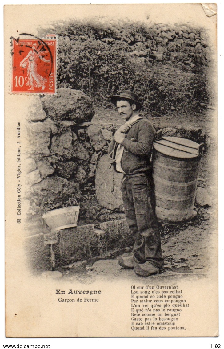
<instances>
[{"instance_id":1,"label":"low, long stone trough edge beneath the pale bucket","mask_svg":"<svg viewBox=\"0 0 224 349\"><path fill-rule=\"evenodd\" d=\"M29 269L40 273L133 246L133 238L124 219L101 223L99 228L87 224L26 237Z\"/></svg>"}]
</instances>

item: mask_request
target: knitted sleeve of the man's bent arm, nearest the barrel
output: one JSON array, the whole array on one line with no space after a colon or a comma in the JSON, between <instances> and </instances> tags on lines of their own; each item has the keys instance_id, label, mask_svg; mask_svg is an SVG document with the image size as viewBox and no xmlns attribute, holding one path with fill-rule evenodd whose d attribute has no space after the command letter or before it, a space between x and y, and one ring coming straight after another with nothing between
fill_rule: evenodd
<instances>
[{"instance_id":1,"label":"knitted sleeve of the man's bent arm, nearest the barrel","mask_svg":"<svg viewBox=\"0 0 224 349\"><path fill-rule=\"evenodd\" d=\"M124 138L121 145L135 155L145 156L149 154L152 148L156 132L151 122L146 119L139 121L138 127L138 142Z\"/></svg>"}]
</instances>

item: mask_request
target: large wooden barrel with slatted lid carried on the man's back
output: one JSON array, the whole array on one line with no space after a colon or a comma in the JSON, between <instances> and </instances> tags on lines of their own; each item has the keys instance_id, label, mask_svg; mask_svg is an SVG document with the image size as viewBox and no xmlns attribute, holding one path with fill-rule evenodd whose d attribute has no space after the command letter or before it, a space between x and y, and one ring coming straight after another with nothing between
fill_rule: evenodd
<instances>
[{"instance_id":1,"label":"large wooden barrel with slatted lid carried on the man's back","mask_svg":"<svg viewBox=\"0 0 224 349\"><path fill-rule=\"evenodd\" d=\"M177 137L164 137L153 143L153 179L159 222L184 223L194 216L202 146Z\"/></svg>"}]
</instances>

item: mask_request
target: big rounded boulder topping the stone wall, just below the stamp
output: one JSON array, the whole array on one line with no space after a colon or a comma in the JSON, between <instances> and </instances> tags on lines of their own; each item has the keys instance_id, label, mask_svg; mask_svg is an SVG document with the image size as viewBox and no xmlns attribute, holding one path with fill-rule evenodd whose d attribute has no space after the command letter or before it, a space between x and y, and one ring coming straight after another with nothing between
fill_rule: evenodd
<instances>
[{"instance_id":1,"label":"big rounded boulder topping the stone wall, just below the stamp","mask_svg":"<svg viewBox=\"0 0 224 349\"><path fill-rule=\"evenodd\" d=\"M76 124L90 121L94 115L91 99L82 91L70 88L57 89L57 94L41 99L47 116L52 120L72 120Z\"/></svg>"}]
</instances>

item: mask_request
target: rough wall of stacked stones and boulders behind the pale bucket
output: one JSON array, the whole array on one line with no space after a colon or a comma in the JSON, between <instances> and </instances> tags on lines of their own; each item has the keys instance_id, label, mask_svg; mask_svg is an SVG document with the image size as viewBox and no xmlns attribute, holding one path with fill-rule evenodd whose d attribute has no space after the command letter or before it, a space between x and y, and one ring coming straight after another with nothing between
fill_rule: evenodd
<instances>
[{"instance_id":1,"label":"rough wall of stacked stones and boulders behind the pale bucket","mask_svg":"<svg viewBox=\"0 0 224 349\"><path fill-rule=\"evenodd\" d=\"M93 103L79 90L33 97L26 127L26 198L31 216L41 220L44 212L69 206L69 198L94 185L96 163L112 131L91 124Z\"/></svg>"}]
</instances>

